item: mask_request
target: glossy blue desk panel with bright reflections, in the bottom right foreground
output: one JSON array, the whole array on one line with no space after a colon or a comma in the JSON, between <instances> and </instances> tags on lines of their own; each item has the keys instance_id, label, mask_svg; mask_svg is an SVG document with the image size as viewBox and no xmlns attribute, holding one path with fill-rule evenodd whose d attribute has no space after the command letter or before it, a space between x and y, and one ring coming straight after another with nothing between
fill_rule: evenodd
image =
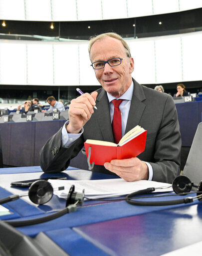
<instances>
[{"instance_id":1,"label":"glossy blue desk panel with bright reflections, in the bottom right foreground","mask_svg":"<svg viewBox=\"0 0 202 256\"><path fill-rule=\"evenodd\" d=\"M73 230L110 255L156 256L202 241L202 204L99 222ZM198 255L201 255L199 252Z\"/></svg>"}]
</instances>

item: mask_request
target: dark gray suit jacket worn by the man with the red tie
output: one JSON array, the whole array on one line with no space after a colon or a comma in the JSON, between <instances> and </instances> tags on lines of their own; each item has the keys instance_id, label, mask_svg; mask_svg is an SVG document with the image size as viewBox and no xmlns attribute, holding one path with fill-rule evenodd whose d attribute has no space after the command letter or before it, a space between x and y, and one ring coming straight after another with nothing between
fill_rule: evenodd
<instances>
[{"instance_id":1,"label":"dark gray suit jacket worn by the man with the red tie","mask_svg":"<svg viewBox=\"0 0 202 256\"><path fill-rule=\"evenodd\" d=\"M134 91L125 133L136 125L147 130L145 151L138 155L153 167L153 180L172 183L180 173L181 134L172 96L134 82ZM97 90L95 110L84 125L83 134L68 148L61 145L61 128L42 147L40 164L44 172L65 170L86 139L114 142L109 102L103 88ZM93 171L110 173L102 165Z\"/></svg>"}]
</instances>

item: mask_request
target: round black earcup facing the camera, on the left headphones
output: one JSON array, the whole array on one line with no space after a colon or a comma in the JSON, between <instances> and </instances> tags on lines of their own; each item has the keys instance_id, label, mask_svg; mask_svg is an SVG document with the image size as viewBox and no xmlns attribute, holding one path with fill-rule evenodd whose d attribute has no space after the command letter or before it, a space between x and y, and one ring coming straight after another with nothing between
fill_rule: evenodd
<instances>
[{"instance_id":1,"label":"round black earcup facing the camera, on the left headphones","mask_svg":"<svg viewBox=\"0 0 202 256\"><path fill-rule=\"evenodd\" d=\"M53 195L53 188L51 184L44 179L33 182L28 191L29 199L36 204L43 204L48 202Z\"/></svg>"}]
</instances>

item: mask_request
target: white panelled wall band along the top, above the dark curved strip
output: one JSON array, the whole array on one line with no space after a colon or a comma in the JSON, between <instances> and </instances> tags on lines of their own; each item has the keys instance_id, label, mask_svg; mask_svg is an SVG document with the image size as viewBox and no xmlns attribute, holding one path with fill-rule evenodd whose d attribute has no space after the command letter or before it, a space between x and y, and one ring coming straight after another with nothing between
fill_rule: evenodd
<instances>
[{"instance_id":1,"label":"white panelled wall band along the top, above the dark curved strip","mask_svg":"<svg viewBox=\"0 0 202 256\"><path fill-rule=\"evenodd\" d=\"M99 20L147 16L201 7L202 0L0 0L0 19Z\"/></svg>"}]
</instances>

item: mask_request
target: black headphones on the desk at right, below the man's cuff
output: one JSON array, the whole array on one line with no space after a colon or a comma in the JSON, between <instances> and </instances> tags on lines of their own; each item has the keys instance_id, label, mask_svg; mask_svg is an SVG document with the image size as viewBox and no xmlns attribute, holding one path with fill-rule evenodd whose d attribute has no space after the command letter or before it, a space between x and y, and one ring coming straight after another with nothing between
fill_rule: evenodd
<instances>
[{"instance_id":1,"label":"black headphones on the desk at right, below the man's cuff","mask_svg":"<svg viewBox=\"0 0 202 256\"><path fill-rule=\"evenodd\" d=\"M185 175L179 175L173 180L173 183L172 183L173 190L176 193L175 195L177 195L177 194L178 195L186 195L191 191L193 186L197 187L197 196L194 196L194 197L185 197L183 199L169 200L169 201L140 201L140 200L134 200L134 199L137 199L137 198L141 198L141 197L134 198L137 195L148 194L148 193L151 193L151 192L155 191L155 187L149 187L149 188L142 189L142 190L139 190L139 191L128 194L126 196L126 201L130 204L133 204L133 205L142 205L142 206L161 206L161 205L189 203L189 202L193 202L196 199L198 199L199 201L202 201L202 181L197 186L196 184L194 184L194 182L192 182L189 179L189 177L187 177ZM169 194L166 194L166 195L169 196ZM171 195L174 195L174 194L171 194ZM160 196L162 196L162 195L157 195L157 196L154 196L154 197L160 197ZM165 194L163 196L165 196ZM144 197L144 198L148 198L148 196Z\"/></svg>"}]
</instances>

